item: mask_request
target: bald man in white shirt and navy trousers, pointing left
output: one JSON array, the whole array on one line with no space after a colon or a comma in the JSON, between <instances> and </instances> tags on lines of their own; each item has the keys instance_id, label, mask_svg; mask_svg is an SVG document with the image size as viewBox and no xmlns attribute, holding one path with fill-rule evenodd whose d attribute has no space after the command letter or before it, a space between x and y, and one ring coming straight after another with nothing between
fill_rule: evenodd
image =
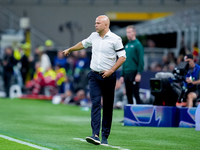
<instances>
[{"instance_id":1,"label":"bald man in white shirt and navy trousers, pointing left","mask_svg":"<svg viewBox=\"0 0 200 150\"><path fill-rule=\"evenodd\" d=\"M89 91L92 101L91 127L92 136L86 141L95 145L108 145L110 135L116 83L115 71L126 60L126 53L119 36L109 29L110 20L101 15L96 18L95 29L88 38L63 51L65 56L70 52L92 47L91 71L88 73ZM118 57L118 59L117 59ZM101 142L99 139L101 125L101 97L103 99L103 119Z\"/></svg>"}]
</instances>

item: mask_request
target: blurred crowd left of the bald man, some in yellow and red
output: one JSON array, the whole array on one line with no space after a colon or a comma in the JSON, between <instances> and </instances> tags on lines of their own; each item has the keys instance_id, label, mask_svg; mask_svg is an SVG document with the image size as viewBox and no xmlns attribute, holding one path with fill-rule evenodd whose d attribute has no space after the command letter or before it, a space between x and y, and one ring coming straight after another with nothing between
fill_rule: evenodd
<instances>
[{"instance_id":1,"label":"blurred crowd left of the bald man, some in yellow and red","mask_svg":"<svg viewBox=\"0 0 200 150\"><path fill-rule=\"evenodd\" d=\"M86 98L87 73L90 70L86 50L64 57L63 50L53 47L51 40L35 47L33 54L30 54L29 43L18 44L20 46L5 47L1 59L1 78L6 97L10 97L10 87L17 84L23 94L61 94L63 98L70 97L71 101L77 102Z\"/></svg>"}]
</instances>

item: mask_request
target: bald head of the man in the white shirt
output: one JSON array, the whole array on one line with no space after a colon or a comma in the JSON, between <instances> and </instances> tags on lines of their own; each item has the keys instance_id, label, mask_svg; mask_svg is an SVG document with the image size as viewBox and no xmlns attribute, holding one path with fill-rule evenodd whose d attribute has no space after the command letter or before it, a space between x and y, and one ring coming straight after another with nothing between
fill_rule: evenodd
<instances>
[{"instance_id":1,"label":"bald head of the man in the white shirt","mask_svg":"<svg viewBox=\"0 0 200 150\"><path fill-rule=\"evenodd\" d=\"M104 36L109 31L110 20L106 15L100 15L96 18L95 29L100 36Z\"/></svg>"}]
</instances>

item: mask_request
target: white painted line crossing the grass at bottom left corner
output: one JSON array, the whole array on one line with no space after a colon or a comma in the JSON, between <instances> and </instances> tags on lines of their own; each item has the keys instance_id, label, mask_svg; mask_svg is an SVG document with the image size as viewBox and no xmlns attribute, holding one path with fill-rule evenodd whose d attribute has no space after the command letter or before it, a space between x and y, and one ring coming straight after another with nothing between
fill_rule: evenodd
<instances>
[{"instance_id":1,"label":"white painted line crossing the grass at bottom left corner","mask_svg":"<svg viewBox=\"0 0 200 150\"><path fill-rule=\"evenodd\" d=\"M18 139L14 139L14 138L11 138L9 136L5 136L5 135L1 135L0 134L0 137L4 138L4 139L7 139L9 141L14 141L14 142L17 142L17 143L20 143L20 144L23 144L23 145L27 145L27 146L30 146L30 147L33 147L33 148L36 148L36 149L40 149L40 150L52 150L52 149L49 149L49 148L46 148L46 147L41 147L41 146L38 146L38 145L35 145L35 144L31 144L31 143L24 142L24 141L21 141L21 140L18 140Z\"/></svg>"}]
</instances>

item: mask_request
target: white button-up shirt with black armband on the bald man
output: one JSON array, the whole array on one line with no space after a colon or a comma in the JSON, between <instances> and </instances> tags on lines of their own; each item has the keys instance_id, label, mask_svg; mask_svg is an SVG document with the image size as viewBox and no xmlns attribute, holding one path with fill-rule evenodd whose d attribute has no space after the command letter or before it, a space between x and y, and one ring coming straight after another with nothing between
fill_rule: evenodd
<instances>
[{"instance_id":1,"label":"white button-up shirt with black armband on the bald man","mask_svg":"<svg viewBox=\"0 0 200 150\"><path fill-rule=\"evenodd\" d=\"M92 46L90 68L94 71L108 71L116 63L117 56L126 58L121 38L110 30L103 38L99 36L99 33L93 32L82 41L82 44L84 48Z\"/></svg>"}]
</instances>

